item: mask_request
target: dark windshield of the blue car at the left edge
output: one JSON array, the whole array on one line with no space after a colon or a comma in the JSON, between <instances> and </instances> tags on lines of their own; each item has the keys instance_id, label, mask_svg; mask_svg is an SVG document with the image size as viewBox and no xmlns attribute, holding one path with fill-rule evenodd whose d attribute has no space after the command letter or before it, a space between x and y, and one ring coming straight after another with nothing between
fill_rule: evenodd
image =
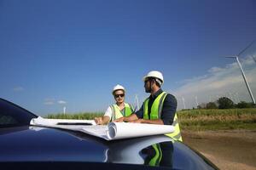
<instances>
[{"instance_id":1,"label":"dark windshield of the blue car at the left edge","mask_svg":"<svg viewBox=\"0 0 256 170\"><path fill-rule=\"evenodd\" d=\"M18 105L0 99L0 127L17 127L29 125L32 118L37 117Z\"/></svg>"}]
</instances>

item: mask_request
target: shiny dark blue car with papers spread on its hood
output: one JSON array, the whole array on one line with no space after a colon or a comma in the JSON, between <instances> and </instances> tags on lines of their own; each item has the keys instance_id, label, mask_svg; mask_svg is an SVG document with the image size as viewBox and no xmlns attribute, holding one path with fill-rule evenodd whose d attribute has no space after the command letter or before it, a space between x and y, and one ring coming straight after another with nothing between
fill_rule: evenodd
<instances>
[{"instance_id":1,"label":"shiny dark blue car with papers spread on its hood","mask_svg":"<svg viewBox=\"0 0 256 170\"><path fill-rule=\"evenodd\" d=\"M1 169L218 169L165 135L106 141L69 130L30 126L38 116L0 99Z\"/></svg>"}]
</instances>

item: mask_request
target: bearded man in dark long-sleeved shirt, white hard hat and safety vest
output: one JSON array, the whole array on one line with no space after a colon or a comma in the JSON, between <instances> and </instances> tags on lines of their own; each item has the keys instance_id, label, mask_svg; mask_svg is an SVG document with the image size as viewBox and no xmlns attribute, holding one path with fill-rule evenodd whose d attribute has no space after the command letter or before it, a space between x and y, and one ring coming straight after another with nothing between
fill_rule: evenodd
<instances>
[{"instance_id":1,"label":"bearded man in dark long-sleeved shirt, white hard hat and safety vest","mask_svg":"<svg viewBox=\"0 0 256 170\"><path fill-rule=\"evenodd\" d=\"M145 99L139 111L131 116L120 117L114 122L138 122L172 125L173 133L166 134L182 141L180 128L177 122L177 99L172 94L167 94L160 87L164 83L164 77L160 71L149 71L148 75L143 77L146 93L151 95Z\"/></svg>"}]
</instances>

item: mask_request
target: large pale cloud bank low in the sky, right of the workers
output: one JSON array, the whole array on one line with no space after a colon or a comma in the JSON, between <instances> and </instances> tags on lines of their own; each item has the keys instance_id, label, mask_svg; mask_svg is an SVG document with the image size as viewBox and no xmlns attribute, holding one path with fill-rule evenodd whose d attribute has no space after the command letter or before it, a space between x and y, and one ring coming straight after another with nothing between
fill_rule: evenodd
<instances>
[{"instance_id":1,"label":"large pale cloud bank low in the sky, right of the workers","mask_svg":"<svg viewBox=\"0 0 256 170\"><path fill-rule=\"evenodd\" d=\"M256 63L254 63L252 57L247 57L241 60L241 65L255 96ZM212 67L207 75L194 77L189 81L185 80L180 88L172 91L172 94L177 97L178 109L183 109L182 98L185 99L186 108L196 107L195 96L197 96L199 104L214 101L222 96L229 97L234 102L252 101L236 62L226 65L224 68Z\"/></svg>"}]
</instances>

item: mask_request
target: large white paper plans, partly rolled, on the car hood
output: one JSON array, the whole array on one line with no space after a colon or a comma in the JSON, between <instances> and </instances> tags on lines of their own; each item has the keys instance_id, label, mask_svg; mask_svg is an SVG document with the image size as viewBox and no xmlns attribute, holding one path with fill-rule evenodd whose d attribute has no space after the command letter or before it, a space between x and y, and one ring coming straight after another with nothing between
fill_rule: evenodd
<instances>
[{"instance_id":1,"label":"large white paper plans, partly rolled, on the car hood","mask_svg":"<svg viewBox=\"0 0 256 170\"><path fill-rule=\"evenodd\" d=\"M59 122L85 122L92 123L93 125L59 125ZM94 120L44 119L42 117L32 119L31 121L31 125L79 131L106 140L130 139L174 132L172 125L131 122L110 122L108 125L95 124Z\"/></svg>"}]
</instances>

